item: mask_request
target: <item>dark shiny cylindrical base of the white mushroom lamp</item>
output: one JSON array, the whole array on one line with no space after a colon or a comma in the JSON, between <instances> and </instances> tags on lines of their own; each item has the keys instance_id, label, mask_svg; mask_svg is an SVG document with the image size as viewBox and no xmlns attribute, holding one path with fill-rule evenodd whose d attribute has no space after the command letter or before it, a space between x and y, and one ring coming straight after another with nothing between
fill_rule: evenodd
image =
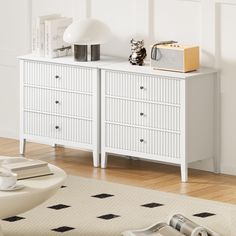
<instances>
[{"instance_id":1,"label":"dark shiny cylindrical base of the white mushroom lamp","mask_svg":"<svg viewBox=\"0 0 236 236\"><path fill-rule=\"evenodd\" d=\"M88 61L88 46L74 45L75 61ZM91 45L91 61L100 60L100 44Z\"/></svg>"}]
</instances>

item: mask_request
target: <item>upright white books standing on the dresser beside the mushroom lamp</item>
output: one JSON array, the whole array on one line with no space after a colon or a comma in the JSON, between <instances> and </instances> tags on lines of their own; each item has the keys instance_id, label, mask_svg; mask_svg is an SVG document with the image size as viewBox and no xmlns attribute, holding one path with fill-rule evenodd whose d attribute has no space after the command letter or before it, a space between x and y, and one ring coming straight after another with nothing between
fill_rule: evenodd
<instances>
[{"instance_id":1,"label":"upright white books standing on the dresser beside the mushroom lamp","mask_svg":"<svg viewBox=\"0 0 236 236\"><path fill-rule=\"evenodd\" d=\"M63 41L65 29L72 18L59 14L38 16L32 26L32 54L56 58L70 55L71 45Z\"/></svg>"}]
</instances>

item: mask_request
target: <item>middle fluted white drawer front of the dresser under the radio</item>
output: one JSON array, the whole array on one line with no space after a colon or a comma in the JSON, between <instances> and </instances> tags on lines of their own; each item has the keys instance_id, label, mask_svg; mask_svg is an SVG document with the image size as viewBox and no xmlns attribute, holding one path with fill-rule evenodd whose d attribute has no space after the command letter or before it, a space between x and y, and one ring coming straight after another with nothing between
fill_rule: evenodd
<instances>
[{"instance_id":1,"label":"middle fluted white drawer front of the dresser under the radio","mask_svg":"<svg viewBox=\"0 0 236 236\"><path fill-rule=\"evenodd\" d=\"M106 98L106 121L179 131L180 107Z\"/></svg>"}]
</instances>

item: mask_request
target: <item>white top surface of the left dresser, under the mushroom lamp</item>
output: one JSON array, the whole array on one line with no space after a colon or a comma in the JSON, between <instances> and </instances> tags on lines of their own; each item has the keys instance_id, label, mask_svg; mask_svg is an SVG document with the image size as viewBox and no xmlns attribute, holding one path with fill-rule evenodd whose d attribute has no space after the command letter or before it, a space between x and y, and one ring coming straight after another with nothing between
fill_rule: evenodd
<instances>
[{"instance_id":1,"label":"white top surface of the left dresser, under the mushroom lamp","mask_svg":"<svg viewBox=\"0 0 236 236\"><path fill-rule=\"evenodd\" d=\"M101 60L99 61L84 61L79 62L75 61L73 56L68 57L59 57L59 58L46 58L46 57L39 57L32 54L24 55L18 57L20 60L28 60L28 61L38 61L38 62L45 62L45 63L56 63L56 64L64 64L64 65L73 65L73 66L84 66L90 68L100 68L105 65L109 65L112 63L118 63L123 61L121 58L112 57L112 56L101 56Z\"/></svg>"}]
</instances>

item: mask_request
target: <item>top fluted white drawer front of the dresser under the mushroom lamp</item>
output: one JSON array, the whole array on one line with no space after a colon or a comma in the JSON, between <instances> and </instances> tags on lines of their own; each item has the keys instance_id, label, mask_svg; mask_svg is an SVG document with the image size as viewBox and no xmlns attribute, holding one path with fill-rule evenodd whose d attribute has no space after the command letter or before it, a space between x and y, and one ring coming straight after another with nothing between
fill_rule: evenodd
<instances>
[{"instance_id":1,"label":"top fluted white drawer front of the dresser under the mushroom lamp","mask_svg":"<svg viewBox=\"0 0 236 236\"><path fill-rule=\"evenodd\" d=\"M24 62L24 83L29 85L92 93L91 68Z\"/></svg>"}]
</instances>

